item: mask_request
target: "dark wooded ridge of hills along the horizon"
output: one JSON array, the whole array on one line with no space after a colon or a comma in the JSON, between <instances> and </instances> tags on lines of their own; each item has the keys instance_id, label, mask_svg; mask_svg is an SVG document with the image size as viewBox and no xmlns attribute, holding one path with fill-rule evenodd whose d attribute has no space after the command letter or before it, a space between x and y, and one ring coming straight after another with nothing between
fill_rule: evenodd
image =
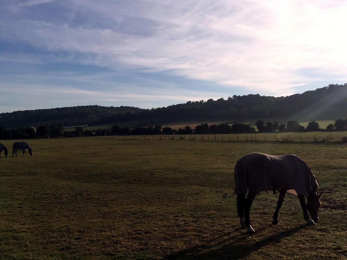
<instances>
[{"instance_id":1,"label":"dark wooded ridge of hills along the horizon","mask_svg":"<svg viewBox=\"0 0 347 260\"><path fill-rule=\"evenodd\" d=\"M345 118L347 118L347 83L330 84L286 97L260 96L259 94L234 95L216 101L213 99L189 101L156 109L88 105L14 111L0 113L0 126L38 127L48 122L60 122L64 127L105 124L143 127L198 121L245 122L270 119L270 121L286 123L289 120L309 122Z\"/></svg>"}]
</instances>

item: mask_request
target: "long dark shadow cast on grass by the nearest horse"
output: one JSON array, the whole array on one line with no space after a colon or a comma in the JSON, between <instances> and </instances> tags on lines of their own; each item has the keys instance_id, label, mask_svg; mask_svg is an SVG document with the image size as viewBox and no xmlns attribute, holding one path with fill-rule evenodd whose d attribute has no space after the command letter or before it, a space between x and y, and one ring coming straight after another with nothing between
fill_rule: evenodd
<instances>
[{"instance_id":1,"label":"long dark shadow cast on grass by the nearest horse","mask_svg":"<svg viewBox=\"0 0 347 260\"><path fill-rule=\"evenodd\" d=\"M257 229L256 234L260 234L271 226L272 225ZM248 239L255 234L249 235L243 233L243 231L239 229L235 229L234 232L215 237L213 240L206 241L204 244L166 255L163 259L243 259L266 245L276 245L280 243L283 238L294 235L307 226L307 224L304 224L274 235L261 236L259 240L256 239L256 242L252 242ZM235 235L235 233L238 234Z\"/></svg>"}]
</instances>

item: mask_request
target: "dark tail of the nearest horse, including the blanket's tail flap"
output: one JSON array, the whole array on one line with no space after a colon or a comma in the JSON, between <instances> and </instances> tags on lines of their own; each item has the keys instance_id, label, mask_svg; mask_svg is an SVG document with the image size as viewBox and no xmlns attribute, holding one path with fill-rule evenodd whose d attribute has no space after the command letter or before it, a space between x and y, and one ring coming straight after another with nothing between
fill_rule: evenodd
<instances>
[{"instance_id":1,"label":"dark tail of the nearest horse, including the blanket's tail flap","mask_svg":"<svg viewBox=\"0 0 347 260\"><path fill-rule=\"evenodd\" d=\"M246 167L240 161L238 161L235 165L234 178L235 178L234 193L237 193L237 198L236 198L237 216L243 217L244 211L245 211L246 193L247 193L247 174L246 174Z\"/></svg>"}]
</instances>

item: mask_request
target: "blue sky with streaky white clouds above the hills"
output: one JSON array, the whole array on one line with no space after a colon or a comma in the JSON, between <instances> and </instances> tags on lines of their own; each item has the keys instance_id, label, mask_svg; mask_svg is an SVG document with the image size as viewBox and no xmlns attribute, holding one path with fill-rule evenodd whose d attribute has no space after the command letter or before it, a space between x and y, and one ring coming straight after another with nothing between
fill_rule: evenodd
<instances>
[{"instance_id":1,"label":"blue sky with streaky white clouds above the hills","mask_svg":"<svg viewBox=\"0 0 347 260\"><path fill-rule=\"evenodd\" d=\"M0 0L0 113L347 83L347 1Z\"/></svg>"}]
</instances>

